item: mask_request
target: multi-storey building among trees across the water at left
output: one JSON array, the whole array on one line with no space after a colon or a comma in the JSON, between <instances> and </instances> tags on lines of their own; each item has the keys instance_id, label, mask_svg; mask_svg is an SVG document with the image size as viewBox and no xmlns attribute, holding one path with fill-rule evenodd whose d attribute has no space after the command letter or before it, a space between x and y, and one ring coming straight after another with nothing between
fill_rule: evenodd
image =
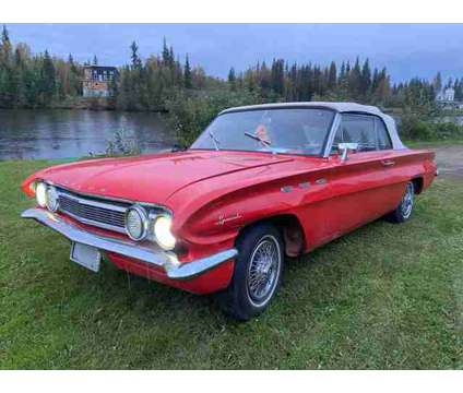
<instances>
[{"instance_id":1,"label":"multi-storey building among trees across the water at left","mask_svg":"<svg viewBox=\"0 0 463 393\"><path fill-rule=\"evenodd\" d=\"M117 81L116 67L86 66L82 80L84 97L109 97L112 95L112 83Z\"/></svg>"}]
</instances>

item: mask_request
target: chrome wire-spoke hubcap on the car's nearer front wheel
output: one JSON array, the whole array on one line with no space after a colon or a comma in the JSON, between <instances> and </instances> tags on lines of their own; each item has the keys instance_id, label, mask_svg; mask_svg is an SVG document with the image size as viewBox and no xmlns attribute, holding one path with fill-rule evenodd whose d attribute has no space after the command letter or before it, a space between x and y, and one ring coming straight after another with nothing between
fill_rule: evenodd
<instances>
[{"instance_id":1,"label":"chrome wire-spoke hubcap on the car's nearer front wheel","mask_svg":"<svg viewBox=\"0 0 463 393\"><path fill-rule=\"evenodd\" d=\"M271 298L280 275L280 265L278 241L268 235L254 248L249 263L248 293L254 306L262 306Z\"/></svg>"}]
</instances>

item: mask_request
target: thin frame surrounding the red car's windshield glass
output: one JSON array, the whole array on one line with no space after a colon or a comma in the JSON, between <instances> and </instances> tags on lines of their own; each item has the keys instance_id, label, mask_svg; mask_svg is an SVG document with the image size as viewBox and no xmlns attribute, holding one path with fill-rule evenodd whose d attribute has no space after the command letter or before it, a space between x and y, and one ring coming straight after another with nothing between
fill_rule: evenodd
<instances>
[{"instance_id":1,"label":"thin frame surrounding the red car's windshield glass","mask_svg":"<svg viewBox=\"0 0 463 393\"><path fill-rule=\"evenodd\" d=\"M221 116L225 116L225 115L229 115L229 114L236 114L236 112L245 112L245 111L257 111L257 110L285 110L285 109L307 109L307 110L311 110L311 109L323 109L327 111L331 111L333 114L333 117L331 119L331 123L328 127L327 130L327 135L324 136L324 141L322 144L322 147L320 148L320 153L318 154L309 154L309 153L286 153L286 152L272 152L271 150L269 151L253 151L253 150L245 150L245 148L219 148L219 151L222 152L247 152L247 153L263 153L263 154L275 154L275 155L296 155L296 156L302 156L302 157L324 157L325 156L325 151L327 151L327 145L329 144L330 140L331 140L331 134L333 133L333 127L336 123L336 118L337 118L337 114L339 111L336 109L330 108L330 107L325 107L325 106L316 106L316 105L311 105L311 106L307 106L307 105L285 105L282 107L272 107L272 108L262 108L262 107L254 107L254 108L236 108L233 110L226 110L224 112L218 114L209 124L207 127L201 132L200 135L202 135L204 132L206 132L206 130L210 128L210 126L215 121L215 119L217 119ZM194 142L200 138L200 135L194 140ZM193 143L194 143L193 142ZM193 144L192 143L192 144ZM209 147L188 147L189 151L216 151L215 148L209 148Z\"/></svg>"}]
</instances>

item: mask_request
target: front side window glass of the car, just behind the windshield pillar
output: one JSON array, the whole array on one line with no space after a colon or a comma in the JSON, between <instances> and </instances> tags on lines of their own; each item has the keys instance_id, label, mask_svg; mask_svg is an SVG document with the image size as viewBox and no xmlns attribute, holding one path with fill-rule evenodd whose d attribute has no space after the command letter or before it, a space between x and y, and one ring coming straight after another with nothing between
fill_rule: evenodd
<instances>
[{"instance_id":1,"label":"front side window glass of the car, just behind the windshield pillar","mask_svg":"<svg viewBox=\"0 0 463 393\"><path fill-rule=\"evenodd\" d=\"M377 150L375 118L364 115L342 115L341 126L334 138L334 145L340 142L358 143L358 151Z\"/></svg>"}]
</instances>

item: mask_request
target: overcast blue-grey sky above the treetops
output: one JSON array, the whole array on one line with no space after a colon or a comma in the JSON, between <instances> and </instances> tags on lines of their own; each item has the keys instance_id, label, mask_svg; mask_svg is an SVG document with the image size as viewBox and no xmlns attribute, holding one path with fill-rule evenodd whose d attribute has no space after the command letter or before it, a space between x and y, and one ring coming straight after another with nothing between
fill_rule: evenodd
<instances>
[{"instance_id":1,"label":"overcast blue-grey sky above the treetops","mask_svg":"<svg viewBox=\"0 0 463 393\"><path fill-rule=\"evenodd\" d=\"M463 76L463 24L8 24L14 44L34 52L83 62L96 55L102 66L129 61L135 40L142 58L159 53L163 37L180 60L201 64L226 78L230 67L245 70L257 61L284 58L289 62L328 64L331 60L369 58L387 67L392 80Z\"/></svg>"}]
</instances>

